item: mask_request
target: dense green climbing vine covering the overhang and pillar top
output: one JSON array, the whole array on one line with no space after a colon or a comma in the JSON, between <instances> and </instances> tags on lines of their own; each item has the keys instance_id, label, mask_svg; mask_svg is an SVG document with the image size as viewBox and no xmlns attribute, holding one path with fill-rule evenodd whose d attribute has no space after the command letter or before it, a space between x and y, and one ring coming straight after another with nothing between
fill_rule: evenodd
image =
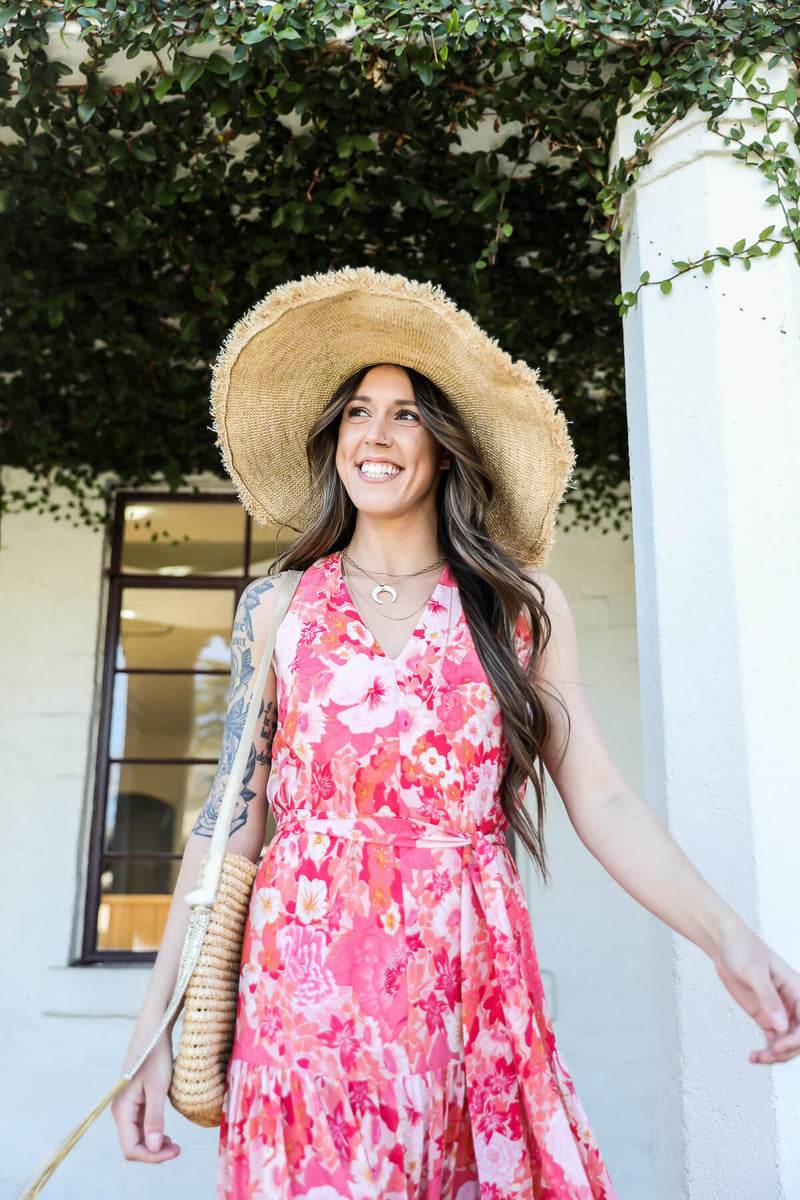
<instances>
[{"instance_id":1,"label":"dense green climbing vine covering the overhang and pillar top","mask_svg":"<svg viewBox=\"0 0 800 1200\"><path fill-rule=\"evenodd\" d=\"M435 278L540 368L578 450L571 518L619 526L620 313L692 270L800 263L799 29L769 0L1 7L0 428L32 481L0 508L91 524L112 485L222 473L225 329L371 263ZM620 204L693 106L772 185L764 229L620 294Z\"/></svg>"}]
</instances>

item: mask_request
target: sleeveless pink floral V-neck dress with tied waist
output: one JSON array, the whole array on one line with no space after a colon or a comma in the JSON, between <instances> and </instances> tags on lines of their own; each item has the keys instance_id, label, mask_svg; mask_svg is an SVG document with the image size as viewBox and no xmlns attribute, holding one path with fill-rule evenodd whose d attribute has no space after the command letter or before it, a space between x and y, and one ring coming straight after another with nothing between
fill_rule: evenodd
<instances>
[{"instance_id":1,"label":"sleeveless pink floral V-neck dress with tied waist","mask_svg":"<svg viewBox=\"0 0 800 1200\"><path fill-rule=\"evenodd\" d=\"M329 556L275 667L277 833L218 1200L615 1200L555 1046L504 840L501 713L451 572L392 660Z\"/></svg>"}]
</instances>

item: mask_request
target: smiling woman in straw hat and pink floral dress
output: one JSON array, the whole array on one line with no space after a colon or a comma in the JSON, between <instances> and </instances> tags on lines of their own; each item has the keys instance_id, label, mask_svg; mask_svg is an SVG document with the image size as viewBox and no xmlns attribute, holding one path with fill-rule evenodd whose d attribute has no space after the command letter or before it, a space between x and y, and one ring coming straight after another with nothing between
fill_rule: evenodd
<instances>
[{"instance_id":1,"label":"smiling woman in straw hat and pink floral dress","mask_svg":"<svg viewBox=\"0 0 800 1200\"><path fill-rule=\"evenodd\" d=\"M504 841L511 827L546 875L542 767L595 857L765 1031L751 1061L800 1050L800 977L698 876L597 730L566 601L537 569L572 466L553 398L435 289L344 270L239 323L213 413L248 510L302 530L278 568L305 571L230 838L258 860L269 798L219 1200L612 1200ZM172 992L273 583L239 604L219 770L128 1062ZM115 1102L128 1158L179 1153L170 1070L164 1042Z\"/></svg>"}]
</instances>

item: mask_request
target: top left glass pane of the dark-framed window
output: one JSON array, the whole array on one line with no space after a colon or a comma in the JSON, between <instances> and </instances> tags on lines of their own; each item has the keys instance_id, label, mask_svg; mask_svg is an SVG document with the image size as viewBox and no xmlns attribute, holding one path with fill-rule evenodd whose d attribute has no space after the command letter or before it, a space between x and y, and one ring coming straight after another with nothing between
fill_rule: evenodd
<instances>
[{"instance_id":1,"label":"top left glass pane of the dark-framed window","mask_svg":"<svg viewBox=\"0 0 800 1200\"><path fill-rule=\"evenodd\" d=\"M241 575L245 521L237 502L150 503L143 496L125 505L120 569L130 575Z\"/></svg>"}]
</instances>

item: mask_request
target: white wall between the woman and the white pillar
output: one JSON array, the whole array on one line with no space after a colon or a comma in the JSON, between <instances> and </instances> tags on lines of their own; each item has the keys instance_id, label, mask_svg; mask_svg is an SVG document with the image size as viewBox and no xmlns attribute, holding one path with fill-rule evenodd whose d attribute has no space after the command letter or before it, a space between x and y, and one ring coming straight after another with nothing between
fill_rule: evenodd
<instances>
[{"instance_id":1,"label":"white wall between the woman and the white pillar","mask_svg":"<svg viewBox=\"0 0 800 1200\"><path fill-rule=\"evenodd\" d=\"M640 793L632 544L572 530L557 539L547 571L570 602L600 728ZM521 874L559 1048L619 1200L673 1200L656 1162L664 1036L655 991L658 923L584 848L552 786L547 846L551 884L543 888L524 860Z\"/></svg>"}]
</instances>

